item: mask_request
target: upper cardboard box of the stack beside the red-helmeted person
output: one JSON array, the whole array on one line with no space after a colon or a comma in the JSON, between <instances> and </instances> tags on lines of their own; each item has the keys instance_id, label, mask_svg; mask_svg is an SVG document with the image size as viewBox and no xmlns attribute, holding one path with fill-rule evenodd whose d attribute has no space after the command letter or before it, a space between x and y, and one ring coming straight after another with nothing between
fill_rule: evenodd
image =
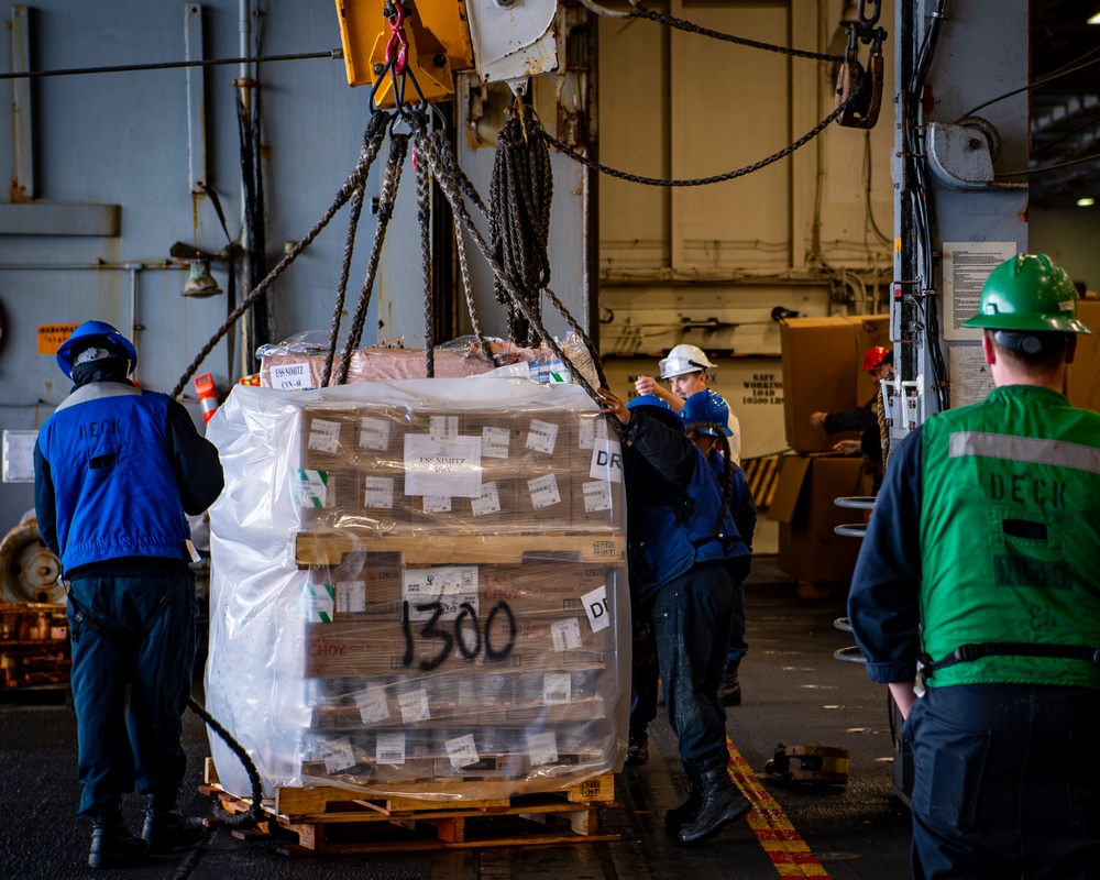
<instances>
[{"instance_id":1,"label":"upper cardboard box of the stack beside the red-helmeted person","mask_svg":"<svg viewBox=\"0 0 1100 880\"><path fill-rule=\"evenodd\" d=\"M838 440L857 439L851 431L827 435L810 424L810 416L846 413L870 399L875 386L864 372L864 353L872 345L891 346L889 316L789 318L779 329L791 449L827 452Z\"/></svg>"}]
</instances>

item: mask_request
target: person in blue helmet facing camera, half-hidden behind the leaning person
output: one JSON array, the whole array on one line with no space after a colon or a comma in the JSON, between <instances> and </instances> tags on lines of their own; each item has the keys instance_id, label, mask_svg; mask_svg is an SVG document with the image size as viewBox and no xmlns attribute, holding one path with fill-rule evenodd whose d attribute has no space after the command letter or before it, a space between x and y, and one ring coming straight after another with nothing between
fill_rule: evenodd
<instances>
[{"instance_id":1,"label":"person in blue helmet facing camera, half-hidden behind the leaning person","mask_svg":"<svg viewBox=\"0 0 1100 880\"><path fill-rule=\"evenodd\" d=\"M724 706L741 704L741 684L738 669L748 652L745 641L745 579L752 564L752 535L756 531L756 501L745 479L745 471L734 460L727 438L729 430L729 406L721 394L710 389L695 392L684 400L680 410L688 430L688 437L706 457L722 486L726 507L734 516L737 532L749 549L730 562L729 579L734 585L734 614L729 627L729 645L726 651L726 668L718 686L718 701Z\"/></svg>"}]
</instances>

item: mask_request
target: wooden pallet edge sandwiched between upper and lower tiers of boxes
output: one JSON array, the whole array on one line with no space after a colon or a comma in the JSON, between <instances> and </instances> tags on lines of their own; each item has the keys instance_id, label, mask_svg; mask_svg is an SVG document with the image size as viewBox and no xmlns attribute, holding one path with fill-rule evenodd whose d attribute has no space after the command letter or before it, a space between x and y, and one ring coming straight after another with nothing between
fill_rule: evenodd
<instances>
[{"instance_id":1,"label":"wooden pallet edge sandwiched between upper and lower tiers of boxes","mask_svg":"<svg viewBox=\"0 0 1100 880\"><path fill-rule=\"evenodd\" d=\"M399 553L402 565L457 565L521 562L592 562L622 564L626 560L626 536L622 532L540 531L501 535L439 535L430 540L417 535L333 529L301 531L295 541L299 568L339 565L351 552Z\"/></svg>"}]
</instances>

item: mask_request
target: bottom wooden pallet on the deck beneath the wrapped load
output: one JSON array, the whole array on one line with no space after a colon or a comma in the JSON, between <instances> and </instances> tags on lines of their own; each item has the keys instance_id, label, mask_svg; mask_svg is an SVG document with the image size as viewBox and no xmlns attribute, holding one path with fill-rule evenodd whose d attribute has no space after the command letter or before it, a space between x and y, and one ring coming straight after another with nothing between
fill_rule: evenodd
<instances>
[{"instance_id":1,"label":"bottom wooden pallet on the deck beneath the wrapped load","mask_svg":"<svg viewBox=\"0 0 1100 880\"><path fill-rule=\"evenodd\" d=\"M267 820L263 826L233 835L241 839L266 836L276 832L274 824L277 831L297 838L296 843L276 847L286 856L548 846L620 838L617 834L602 833L601 812L619 806L614 801L615 777L609 772L541 794L505 796L507 782L499 780L501 796L461 801L432 801L422 796L453 795L455 787L461 784L460 781L420 782L407 796L364 795L324 787L277 789L274 799L264 800ZM200 791L217 796L228 813L235 815L251 810L250 799L221 788L209 758L206 784ZM485 780L477 782L477 792L493 794Z\"/></svg>"}]
</instances>

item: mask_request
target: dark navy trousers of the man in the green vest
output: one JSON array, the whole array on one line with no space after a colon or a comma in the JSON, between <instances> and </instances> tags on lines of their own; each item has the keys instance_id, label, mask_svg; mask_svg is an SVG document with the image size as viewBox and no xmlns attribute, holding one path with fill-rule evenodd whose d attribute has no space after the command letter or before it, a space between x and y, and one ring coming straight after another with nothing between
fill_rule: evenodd
<instances>
[{"instance_id":1,"label":"dark navy trousers of the man in the green vest","mask_svg":"<svg viewBox=\"0 0 1100 880\"><path fill-rule=\"evenodd\" d=\"M1100 690L931 688L913 748L913 876L1100 877Z\"/></svg>"}]
</instances>

